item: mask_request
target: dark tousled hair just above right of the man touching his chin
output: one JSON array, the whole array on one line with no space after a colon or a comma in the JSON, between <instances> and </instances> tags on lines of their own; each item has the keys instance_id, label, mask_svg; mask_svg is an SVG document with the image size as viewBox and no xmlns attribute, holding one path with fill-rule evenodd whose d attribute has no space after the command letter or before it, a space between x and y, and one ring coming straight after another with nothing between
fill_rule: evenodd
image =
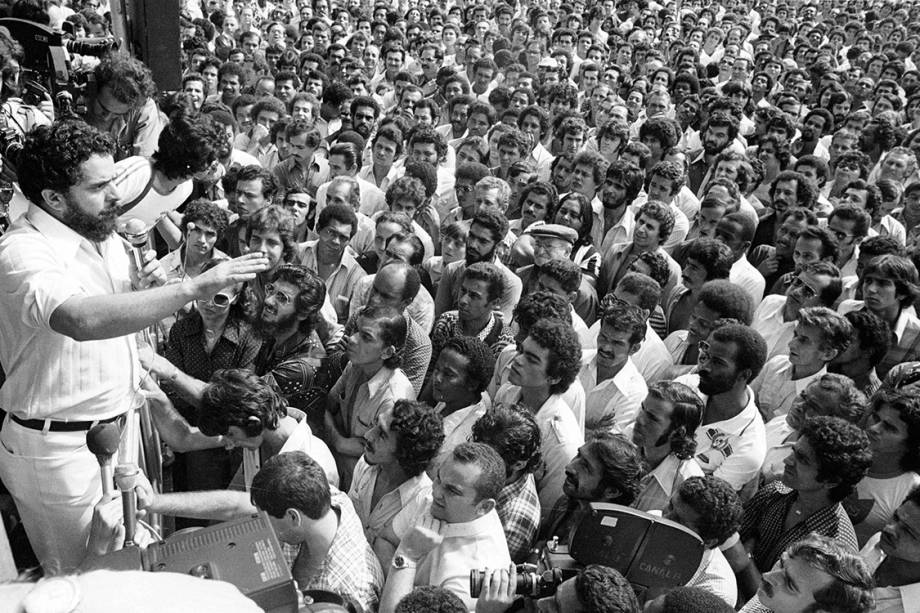
<instances>
[{"instance_id":1,"label":"dark tousled hair just above right of the man touching his chin","mask_svg":"<svg viewBox=\"0 0 920 613\"><path fill-rule=\"evenodd\" d=\"M518 462L525 463L525 473L532 473L543 461L540 428L530 411L518 405L496 405L486 411L473 424L472 440L498 452L505 461L506 478Z\"/></svg>"}]
</instances>

